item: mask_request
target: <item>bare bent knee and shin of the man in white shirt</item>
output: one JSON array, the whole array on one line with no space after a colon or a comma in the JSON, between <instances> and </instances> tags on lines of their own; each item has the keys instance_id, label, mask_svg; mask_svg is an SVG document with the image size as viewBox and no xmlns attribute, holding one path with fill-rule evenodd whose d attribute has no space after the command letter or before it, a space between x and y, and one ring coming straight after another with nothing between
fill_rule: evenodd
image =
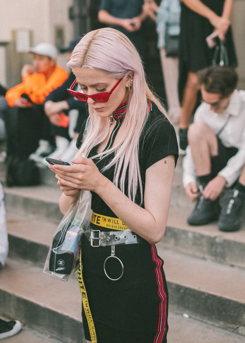
<instances>
[{"instance_id":1,"label":"bare bent knee and shin of the man in white shirt","mask_svg":"<svg viewBox=\"0 0 245 343\"><path fill-rule=\"evenodd\" d=\"M193 123L188 130L188 142L196 175L210 174L211 156L218 154L218 142L214 132L204 122Z\"/></svg>"}]
</instances>

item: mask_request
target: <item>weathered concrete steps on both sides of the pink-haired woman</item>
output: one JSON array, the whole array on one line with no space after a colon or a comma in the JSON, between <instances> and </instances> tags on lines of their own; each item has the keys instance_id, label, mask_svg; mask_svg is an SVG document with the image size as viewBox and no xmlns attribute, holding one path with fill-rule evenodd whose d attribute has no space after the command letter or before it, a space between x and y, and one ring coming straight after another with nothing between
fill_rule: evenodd
<instances>
[{"instance_id":1,"label":"weathered concrete steps on both sides of the pink-haired woman","mask_svg":"<svg viewBox=\"0 0 245 343\"><path fill-rule=\"evenodd\" d=\"M20 319L27 327L59 337L60 342L83 342L76 277L62 282L42 273L62 215L56 179L48 168L41 174L42 186L4 188L10 252L1 271L0 315ZM0 179L4 180L2 170ZM166 232L157 244L169 288L168 342L243 342L245 225L238 232L222 233L216 223L201 227L186 224L193 204L186 201L180 179L178 165ZM183 318L183 313L190 318ZM208 340L204 340L204 328L212 333ZM34 339L30 342L36 343Z\"/></svg>"}]
</instances>

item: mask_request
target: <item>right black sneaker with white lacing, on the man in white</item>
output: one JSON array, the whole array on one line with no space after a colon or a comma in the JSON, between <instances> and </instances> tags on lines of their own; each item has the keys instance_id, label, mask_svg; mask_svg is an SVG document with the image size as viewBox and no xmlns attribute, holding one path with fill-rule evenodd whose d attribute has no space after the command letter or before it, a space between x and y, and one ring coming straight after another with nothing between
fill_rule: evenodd
<instances>
[{"instance_id":1,"label":"right black sneaker with white lacing, on the man in white","mask_svg":"<svg viewBox=\"0 0 245 343\"><path fill-rule=\"evenodd\" d=\"M218 228L221 231L237 231L240 229L240 213L245 194L237 189L228 189L222 199Z\"/></svg>"}]
</instances>

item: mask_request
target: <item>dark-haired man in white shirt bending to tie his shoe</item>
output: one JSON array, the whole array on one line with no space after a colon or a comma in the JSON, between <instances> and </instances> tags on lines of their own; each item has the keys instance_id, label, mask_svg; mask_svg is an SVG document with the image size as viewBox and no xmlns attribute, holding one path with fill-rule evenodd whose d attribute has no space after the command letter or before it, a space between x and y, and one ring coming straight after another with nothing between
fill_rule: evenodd
<instances>
[{"instance_id":1,"label":"dark-haired man in white shirt bending to tie his shoe","mask_svg":"<svg viewBox=\"0 0 245 343\"><path fill-rule=\"evenodd\" d=\"M187 219L190 225L218 219L220 230L240 228L245 200L245 91L235 89L237 80L230 67L212 66L198 72L203 103L189 128L183 160L186 195L197 200ZM224 187L230 190L224 194L220 212L219 196Z\"/></svg>"}]
</instances>

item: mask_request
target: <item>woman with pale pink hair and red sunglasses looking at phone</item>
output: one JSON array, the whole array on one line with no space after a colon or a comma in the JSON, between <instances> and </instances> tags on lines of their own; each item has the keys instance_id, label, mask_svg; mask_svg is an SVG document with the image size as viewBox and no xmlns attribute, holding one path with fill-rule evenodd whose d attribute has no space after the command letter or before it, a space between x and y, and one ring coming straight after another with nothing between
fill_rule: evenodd
<instances>
[{"instance_id":1,"label":"woman with pale pink hair and red sunglasses looking at phone","mask_svg":"<svg viewBox=\"0 0 245 343\"><path fill-rule=\"evenodd\" d=\"M89 118L72 166L50 165L66 213L81 190L92 218L79 285L87 342L167 342L168 291L155 244L164 235L178 145L139 54L112 28L86 34L68 62ZM81 266L82 265L82 266ZM81 272L82 269L82 272Z\"/></svg>"}]
</instances>

